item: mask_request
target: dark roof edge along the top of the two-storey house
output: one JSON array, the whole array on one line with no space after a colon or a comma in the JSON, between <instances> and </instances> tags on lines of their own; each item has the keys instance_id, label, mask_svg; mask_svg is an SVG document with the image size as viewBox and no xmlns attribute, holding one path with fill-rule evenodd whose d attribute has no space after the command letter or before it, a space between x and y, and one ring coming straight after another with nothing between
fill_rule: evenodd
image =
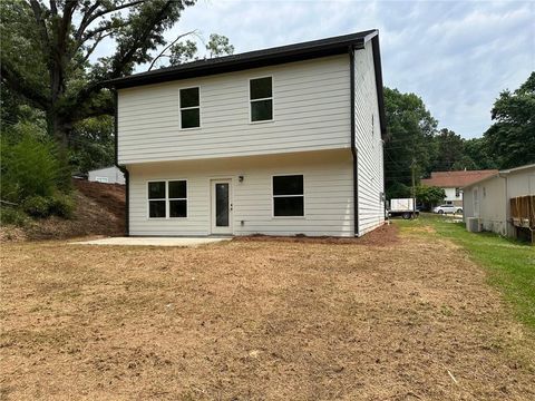
<instances>
[{"instance_id":1,"label":"dark roof edge along the top of the two-storey house","mask_svg":"<svg viewBox=\"0 0 535 401\"><path fill-rule=\"evenodd\" d=\"M371 40L377 35L378 31L372 29L302 43L198 60L175 67L167 67L154 71L135 74L124 78L111 79L106 84L116 88L127 88L341 55L348 52L350 47L362 48L367 41Z\"/></svg>"}]
</instances>

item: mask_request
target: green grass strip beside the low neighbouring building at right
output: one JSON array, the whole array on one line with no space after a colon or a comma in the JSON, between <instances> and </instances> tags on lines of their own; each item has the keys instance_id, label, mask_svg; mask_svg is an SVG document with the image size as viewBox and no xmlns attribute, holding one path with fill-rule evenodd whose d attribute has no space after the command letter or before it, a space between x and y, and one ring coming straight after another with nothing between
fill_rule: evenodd
<instances>
[{"instance_id":1,"label":"green grass strip beside the low neighbouring building at right","mask_svg":"<svg viewBox=\"0 0 535 401\"><path fill-rule=\"evenodd\" d=\"M535 330L535 246L494 233L469 233L451 218L422 215L417 221L396 221L407 234L437 236L463 246L470 258L489 272L496 285L516 311L518 319Z\"/></svg>"}]
</instances>

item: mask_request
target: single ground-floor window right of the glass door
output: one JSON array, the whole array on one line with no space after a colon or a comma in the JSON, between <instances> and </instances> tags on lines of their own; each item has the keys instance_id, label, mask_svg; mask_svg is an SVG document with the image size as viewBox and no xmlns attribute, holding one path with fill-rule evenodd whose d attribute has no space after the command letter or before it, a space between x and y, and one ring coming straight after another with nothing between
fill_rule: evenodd
<instances>
[{"instance_id":1,"label":"single ground-floor window right of the glass door","mask_svg":"<svg viewBox=\"0 0 535 401\"><path fill-rule=\"evenodd\" d=\"M304 179L302 175L273 176L273 216L304 216Z\"/></svg>"}]
</instances>

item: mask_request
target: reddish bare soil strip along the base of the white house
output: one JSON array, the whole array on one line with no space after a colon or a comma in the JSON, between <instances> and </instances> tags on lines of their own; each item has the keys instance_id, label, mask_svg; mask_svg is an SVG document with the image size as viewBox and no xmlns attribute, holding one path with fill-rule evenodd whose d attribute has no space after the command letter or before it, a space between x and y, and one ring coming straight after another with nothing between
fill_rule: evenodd
<instances>
[{"instance_id":1,"label":"reddish bare soil strip along the base of the white house","mask_svg":"<svg viewBox=\"0 0 535 401\"><path fill-rule=\"evenodd\" d=\"M272 236L272 235L247 235L239 236L233 241L236 242L284 242L284 243L305 243L305 244L332 244L332 245L369 245L369 246L389 246L398 242L398 227L392 224L383 224L379 228L373 229L358 238L341 238L332 236Z\"/></svg>"}]
</instances>

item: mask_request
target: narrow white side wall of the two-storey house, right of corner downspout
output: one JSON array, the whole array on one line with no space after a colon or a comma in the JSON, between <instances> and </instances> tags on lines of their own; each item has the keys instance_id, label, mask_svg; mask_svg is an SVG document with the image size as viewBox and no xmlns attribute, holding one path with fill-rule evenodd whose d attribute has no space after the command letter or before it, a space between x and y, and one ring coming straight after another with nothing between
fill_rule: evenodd
<instances>
[{"instance_id":1,"label":"narrow white side wall of the two-storey house, right of corner downspout","mask_svg":"<svg viewBox=\"0 0 535 401\"><path fill-rule=\"evenodd\" d=\"M359 235L385 222L383 149L371 42L354 52Z\"/></svg>"}]
</instances>

